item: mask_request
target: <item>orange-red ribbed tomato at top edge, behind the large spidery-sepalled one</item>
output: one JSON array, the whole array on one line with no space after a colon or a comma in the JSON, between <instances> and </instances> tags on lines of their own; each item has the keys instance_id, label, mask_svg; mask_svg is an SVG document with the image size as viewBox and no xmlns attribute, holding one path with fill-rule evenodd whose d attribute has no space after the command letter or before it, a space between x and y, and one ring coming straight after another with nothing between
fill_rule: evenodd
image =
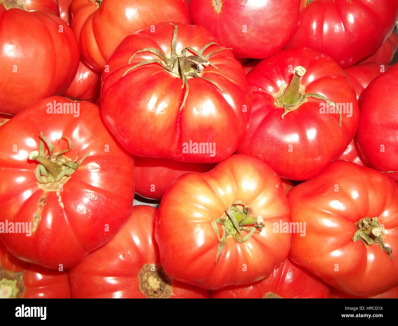
<instances>
[{"instance_id":1,"label":"orange-red ribbed tomato at top edge, behind the large spidery-sepalled one","mask_svg":"<svg viewBox=\"0 0 398 326\"><path fill-rule=\"evenodd\" d=\"M187 0L73 0L72 14L82 58L97 71L127 35L162 21L191 22Z\"/></svg>"}]
</instances>

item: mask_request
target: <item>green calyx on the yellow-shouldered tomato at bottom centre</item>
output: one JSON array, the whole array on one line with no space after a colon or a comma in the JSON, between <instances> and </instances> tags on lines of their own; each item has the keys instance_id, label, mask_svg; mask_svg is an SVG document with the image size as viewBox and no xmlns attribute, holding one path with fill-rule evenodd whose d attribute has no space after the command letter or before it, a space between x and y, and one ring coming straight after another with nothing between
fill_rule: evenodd
<instances>
[{"instance_id":1,"label":"green calyx on the yellow-shouldered tomato at bottom centre","mask_svg":"<svg viewBox=\"0 0 398 326\"><path fill-rule=\"evenodd\" d=\"M263 218L261 216L252 217L250 216L250 213L251 209L248 206L246 206L242 201L236 201L225 210L222 217L214 219L211 222L220 242L215 259L216 265L222 249L227 242L228 236L231 235L236 242L243 243L249 240L254 232L261 232L264 227ZM217 224L221 224L222 227L221 238ZM242 231L248 233L244 236Z\"/></svg>"}]
</instances>

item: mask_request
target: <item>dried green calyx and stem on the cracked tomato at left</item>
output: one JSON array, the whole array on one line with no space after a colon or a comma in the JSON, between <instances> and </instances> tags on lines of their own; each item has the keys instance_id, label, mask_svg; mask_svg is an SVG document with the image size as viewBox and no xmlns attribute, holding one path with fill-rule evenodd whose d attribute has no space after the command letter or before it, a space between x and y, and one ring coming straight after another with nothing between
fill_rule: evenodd
<instances>
[{"instance_id":1,"label":"dried green calyx and stem on the cracked tomato at left","mask_svg":"<svg viewBox=\"0 0 398 326\"><path fill-rule=\"evenodd\" d=\"M69 177L76 171L88 154L90 154L90 152L88 152L79 161L78 156L76 156L73 161L70 160L64 156L64 154L72 149L72 141L65 136L62 136L60 140L61 139L66 139L66 141L68 141L69 148L60 151L58 154L54 154L54 146L43 136L43 131L40 132L39 151L34 150L29 154L29 160L35 160L39 163L35 171L37 182L41 184L51 183L63 185L68 181ZM48 148L46 152L44 152L44 144L46 144ZM57 188L47 190L57 190Z\"/></svg>"}]
</instances>

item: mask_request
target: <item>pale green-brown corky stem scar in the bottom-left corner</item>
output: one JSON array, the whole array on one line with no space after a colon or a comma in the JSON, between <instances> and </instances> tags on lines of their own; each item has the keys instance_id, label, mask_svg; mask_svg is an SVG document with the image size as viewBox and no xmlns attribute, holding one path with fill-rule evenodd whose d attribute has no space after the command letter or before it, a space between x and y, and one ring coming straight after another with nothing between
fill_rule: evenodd
<instances>
[{"instance_id":1,"label":"pale green-brown corky stem scar in the bottom-left corner","mask_svg":"<svg viewBox=\"0 0 398 326\"><path fill-rule=\"evenodd\" d=\"M22 298L26 289L23 285L23 273L6 271L0 263L0 299Z\"/></svg>"}]
</instances>

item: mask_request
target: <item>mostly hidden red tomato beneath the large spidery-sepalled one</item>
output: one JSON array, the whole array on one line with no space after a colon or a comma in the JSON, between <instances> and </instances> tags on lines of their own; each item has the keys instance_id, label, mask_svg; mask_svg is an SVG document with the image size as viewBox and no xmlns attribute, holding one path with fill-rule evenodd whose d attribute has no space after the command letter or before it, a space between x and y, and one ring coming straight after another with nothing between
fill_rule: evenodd
<instances>
[{"instance_id":1,"label":"mostly hidden red tomato beneath the large spidery-sepalled one","mask_svg":"<svg viewBox=\"0 0 398 326\"><path fill-rule=\"evenodd\" d=\"M213 164L183 163L164 158L135 157L135 193L160 200L166 189L187 172L207 172Z\"/></svg>"}]
</instances>

